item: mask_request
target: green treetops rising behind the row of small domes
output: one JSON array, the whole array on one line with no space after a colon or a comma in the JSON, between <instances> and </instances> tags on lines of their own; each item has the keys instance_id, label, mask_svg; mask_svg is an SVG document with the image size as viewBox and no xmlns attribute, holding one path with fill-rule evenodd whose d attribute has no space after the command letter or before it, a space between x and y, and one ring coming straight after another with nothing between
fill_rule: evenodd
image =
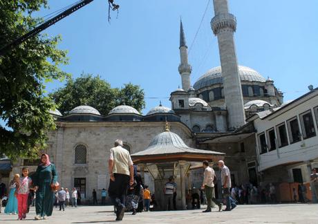
<instances>
[{"instance_id":1,"label":"green treetops rising behind the row of small domes","mask_svg":"<svg viewBox=\"0 0 318 224\"><path fill-rule=\"evenodd\" d=\"M138 111L144 109L144 91L131 83L123 88L111 88L100 76L82 74L76 80L68 80L63 88L50 94L61 113L68 113L76 106L93 106L102 115L107 115L115 106L126 104Z\"/></svg>"}]
</instances>

